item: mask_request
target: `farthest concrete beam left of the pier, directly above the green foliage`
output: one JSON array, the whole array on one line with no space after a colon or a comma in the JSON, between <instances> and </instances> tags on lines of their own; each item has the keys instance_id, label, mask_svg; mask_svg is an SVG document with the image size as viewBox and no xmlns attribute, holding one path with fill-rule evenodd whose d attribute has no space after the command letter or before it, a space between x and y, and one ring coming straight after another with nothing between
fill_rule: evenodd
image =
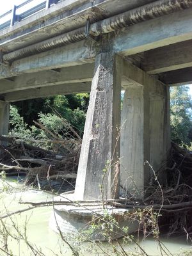
<instances>
[{"instance_id":1,"label":"farthest concrete beam left of the pier, directly above the green foliage","mask_svg":"<svg viewBox=\"0 0 192 256\"><path fill-rule=\"evenodd\" d=\"M73 94L90 92L91 82L86 83L72 83L72 84L60 84L54 86L45 86L42 88L35 88L29 90L22 90L18 92L5 93L4 100L8 102L15 102L20 100L29 100L36 98L49 97L60 94Z\"/></svg>"}]
</instances>

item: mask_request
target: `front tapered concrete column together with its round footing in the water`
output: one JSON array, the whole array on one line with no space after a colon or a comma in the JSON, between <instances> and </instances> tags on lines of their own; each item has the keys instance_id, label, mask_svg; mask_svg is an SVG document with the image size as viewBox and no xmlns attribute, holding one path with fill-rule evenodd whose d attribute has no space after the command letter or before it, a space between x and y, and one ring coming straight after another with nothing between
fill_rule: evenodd
<instances>
[{"instance_id":1,"label":"front tapered concrete column together with its round footing in the water","mask_svg":"<svg viewBox=\"0 0 192 256\"><path fill-rule=\"evenodd\" d=\"M74 194L63 195L69 200L84 202L86 207L81 203L77 206L56 205L51 219L53 229L57 227L55 217L61 232L71 233L88 228L94 216L101 217L106 212L114 216L119 227L129 225L129 232L138 228L137 221L129 221L124 216L129 210L102 205L107 199L119 198L122 72L123 60L120 56L102 52L96 57L76 189ZM122 230L114 227L112 237L120 236ZM97 228L91 239L108 240L109 237L104 237L102 230Z\"/></svg>"}]
</instances>

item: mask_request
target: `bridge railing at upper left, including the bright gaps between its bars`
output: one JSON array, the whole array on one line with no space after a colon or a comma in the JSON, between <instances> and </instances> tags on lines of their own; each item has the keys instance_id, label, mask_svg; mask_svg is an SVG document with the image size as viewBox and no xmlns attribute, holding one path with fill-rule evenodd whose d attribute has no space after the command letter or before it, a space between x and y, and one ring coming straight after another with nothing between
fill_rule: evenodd
<instances>
[{"instance_id":1,"label":"bridge railing at upper left, including the bright gaps between its bars","mask_svg":"<svg viewBox=\"0 0 192 256\"><path fill-rule=\"evenodd\" d=\"M12 10L0 15L0 30L12 27L15 22L26 19L30 15L44 9L48 9L52 4L57 4L61 0L26 0L19 5L13 5Z\"/></svg>"}]
</instances>

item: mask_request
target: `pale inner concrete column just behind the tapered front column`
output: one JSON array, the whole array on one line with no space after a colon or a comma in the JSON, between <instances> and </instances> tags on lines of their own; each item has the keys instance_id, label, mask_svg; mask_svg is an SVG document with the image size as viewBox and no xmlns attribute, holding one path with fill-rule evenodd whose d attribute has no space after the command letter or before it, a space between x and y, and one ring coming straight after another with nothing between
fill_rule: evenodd
<instances>
[{"instance_id":1,"label":"pale inner concrete column just behind the tapered front column","mask_svg":"<svg viewBox=\"0 0 192 256\"><path fill-rule=\"evenodd\" d=\"M121 129L120 184L129 193L144 190L143 86L127 86L124 93Z\"/></svg>"}]
</instances>

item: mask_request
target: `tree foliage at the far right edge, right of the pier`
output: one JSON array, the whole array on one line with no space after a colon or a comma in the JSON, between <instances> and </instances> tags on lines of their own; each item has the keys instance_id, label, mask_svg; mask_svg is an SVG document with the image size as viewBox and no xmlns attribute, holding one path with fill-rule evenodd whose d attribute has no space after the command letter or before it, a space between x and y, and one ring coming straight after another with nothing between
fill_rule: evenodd
<instances>
[{"instance_id":1,"label":"tree foliage at the far right edge, right of the pier","mask_svg":"<svg viewBox=\"0 0 192 256\"><path fill-rule=\"evenodd\" d=\"M182 147L190 147L192 141L192 100L188 86L170 89L172 140Z\"/></svg>"}]
</instances>

